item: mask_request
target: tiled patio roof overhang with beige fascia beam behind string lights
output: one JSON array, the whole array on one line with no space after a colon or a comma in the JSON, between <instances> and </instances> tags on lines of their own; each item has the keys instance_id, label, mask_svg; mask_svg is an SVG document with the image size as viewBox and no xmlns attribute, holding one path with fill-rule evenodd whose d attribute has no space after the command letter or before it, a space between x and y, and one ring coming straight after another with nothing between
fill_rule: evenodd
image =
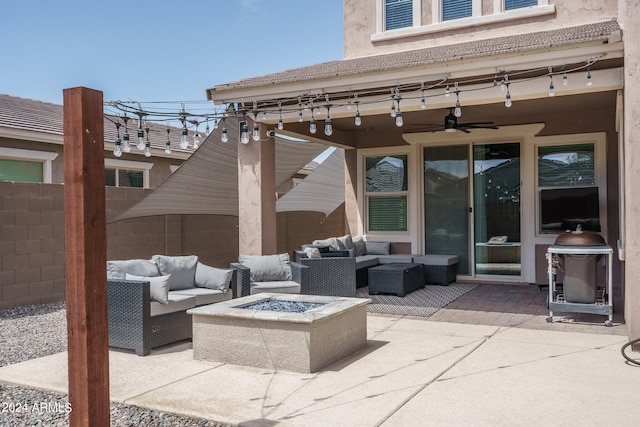
<instances>
[{"instance_id":1,"label":"tiled patio roof overhang with beige fascia beam behind string lights","mask_svg":"<svg viewBox=\"0 0 640 427\"><path fill-rule=\"evenodd\" d=\"M456 101L455 96L444 96L446 85L452 92L454 84L459 85L464 121L513 124L514 117L523 114L522 101L549 100L548 68L553 66L554 73L559 73L563 64L582 64L571 72L568 87L561 87L561 76L556 77L553 103L563 111L593 105L599 93L622 88L623 44L617 22L331 61L217 85L207 90L207 97L215 103L243 105L250 111L251 105L264 108L267 113L259 121L270 128L281 115L284 129L278 133L285 135L342 148L396 145L406 143L403 133L424 129L427 124L442 125ZM587 72L593 75L590 87L578 83L586 80ZM518 109L505 108L504 92L492 87L493 80L504 75L509 75L514 103L521 103ZM404 91L401 128L389 118L394 88ZM361 126L354 124L354 104L349 105L356 93ZM421 108L422 94L426 109ZM302 110L303 121L298 121L298 101L303 98L317 100L314 105L320 110L314 118L319 124L327 117L325 105L331 105L334 131L330 137L321 131L309 132L310 111ZM376 138L367 138L372 132Z\"/></svg>"}]
</instances>

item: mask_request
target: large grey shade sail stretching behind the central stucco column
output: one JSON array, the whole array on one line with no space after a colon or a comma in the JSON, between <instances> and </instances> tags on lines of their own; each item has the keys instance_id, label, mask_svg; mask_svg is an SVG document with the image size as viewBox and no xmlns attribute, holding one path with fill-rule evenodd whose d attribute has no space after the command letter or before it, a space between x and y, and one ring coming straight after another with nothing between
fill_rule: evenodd
<instances>
[{"instance_id":1,"label":"large grey shade sail stretching behind the central stucco column","mask_svg":"<svg viewBox=\"0 0 640 427\"><path fill-rule=\"evenodd\" d=\"M238 122L226 120L229 135ZM221 129L147 197L108 222L154 215L209 214L238 216L238 144L220 142ZM253 142L251 142L253 143ZM326 149L322 144L276 137L276 187Z\"/></svg>"}]
</instances>

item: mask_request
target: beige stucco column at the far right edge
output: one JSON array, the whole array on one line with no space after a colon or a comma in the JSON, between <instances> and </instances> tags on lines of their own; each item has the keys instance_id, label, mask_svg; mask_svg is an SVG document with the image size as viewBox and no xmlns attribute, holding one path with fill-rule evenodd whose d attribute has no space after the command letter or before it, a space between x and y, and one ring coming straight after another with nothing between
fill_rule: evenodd
<instances>
[{"instance_id":1,"label":"beige stucco column at the far right edge","mask_svg":"<svg viewBox=\"0 0 640 427\"><path fill-rule=\"evenodd\" d=\"M640 338L640 6L636 1L620 0L619 15L624 36L624 155L625 155L625 323L630 339ZM615 301L614 301L615 304ZM634 346L640 351L640 344Z\"/></svg>"}]
</instances>

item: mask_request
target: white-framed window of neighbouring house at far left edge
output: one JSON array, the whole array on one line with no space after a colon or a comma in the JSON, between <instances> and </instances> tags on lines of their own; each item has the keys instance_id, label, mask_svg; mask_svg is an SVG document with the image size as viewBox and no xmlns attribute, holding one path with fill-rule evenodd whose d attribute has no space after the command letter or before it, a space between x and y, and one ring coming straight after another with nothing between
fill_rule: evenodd
<instances>
[{"instance_id":1,"label":"white-framed window of neighbouring house at far left edge","mask_svg":"<svg viewBox=\"0 0 640 427\"><path fill-rule=\"evenodd\" d=\"M58 153L0 147L0 181L53 182Z\"/></svg>"}]
</instances>

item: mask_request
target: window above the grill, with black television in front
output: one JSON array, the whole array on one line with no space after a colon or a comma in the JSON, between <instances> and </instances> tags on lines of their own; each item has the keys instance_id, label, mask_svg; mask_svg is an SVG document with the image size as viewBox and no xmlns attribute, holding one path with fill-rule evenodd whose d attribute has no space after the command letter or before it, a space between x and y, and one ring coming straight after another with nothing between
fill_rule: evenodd
<instances>
[{"instance_id":1,"label":"window above the grill, with black television in front","mask_svg":"<svg viewBox=\"0 0 640 427\"><path fill-rule=\"evenodd\" d=\"M538 147L540 232L600 230L595 146Z\"/></svg>"}]
</instances>

